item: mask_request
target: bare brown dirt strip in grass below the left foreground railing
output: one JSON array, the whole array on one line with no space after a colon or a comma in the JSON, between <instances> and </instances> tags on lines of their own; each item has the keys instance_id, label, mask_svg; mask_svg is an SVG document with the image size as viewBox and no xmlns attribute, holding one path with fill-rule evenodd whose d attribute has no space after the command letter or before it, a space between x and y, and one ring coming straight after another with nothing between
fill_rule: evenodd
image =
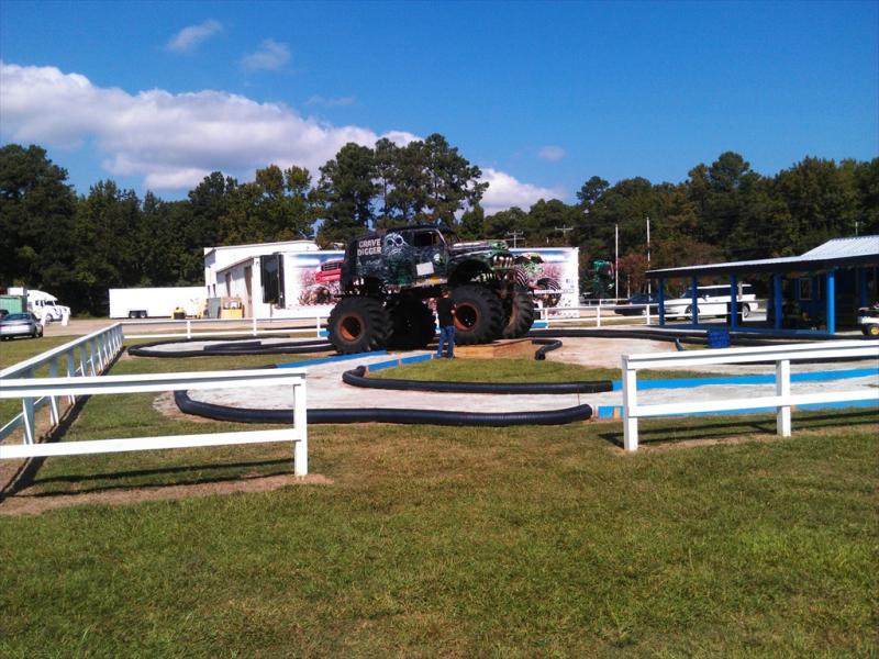
<instances>
[{"instance_id":1,"label":"bare brown dirt strip in grass below the left foreground railing","mask_svg":"<svg viewBox=\"0 0 879 659\"><path fill-rule=\"evenodd\" d=\"M234 481L216 483L193 483L189 485L166 485L162 488L129 488L104 492L85 492L78 494L40 495L24 490L14 496L0 502L0 515L38 515L46 511L70 505L124 505L143 501L168 501L193 496L212 496L214 494L232 494L234 492L270 492L287 485L329 485L333 480L312 473L293 476L282 473L276 476L249 477Z\"/></svg>"}]
</instances>

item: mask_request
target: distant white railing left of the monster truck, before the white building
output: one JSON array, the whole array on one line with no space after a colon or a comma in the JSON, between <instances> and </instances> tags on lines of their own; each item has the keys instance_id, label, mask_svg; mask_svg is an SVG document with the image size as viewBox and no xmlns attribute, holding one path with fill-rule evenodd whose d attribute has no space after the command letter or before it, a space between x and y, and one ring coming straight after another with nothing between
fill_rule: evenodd
<instances>
[{"instance_id":1,"label":"distant white railing left of the monster truck, before the white building","mask_svg":"<svg viewBox=\"0 0 879 659\"><path fill-rule=\"evenodd\" d=\"M272 334L309 334L321 337L321 331L329 315L315 314L296 319L186 319L186 320L152 320L152 321L122 321L125 327L138 326L173 326L173 332L148 332L144 334L133 334L126 332L126 338L198 338L200 336L260 336ZM285 324L286 327L272 330L271 325ZM229 325L232 327L244 327L247 330L199 330L203 325Z\"/></svg>"}]
</instances>

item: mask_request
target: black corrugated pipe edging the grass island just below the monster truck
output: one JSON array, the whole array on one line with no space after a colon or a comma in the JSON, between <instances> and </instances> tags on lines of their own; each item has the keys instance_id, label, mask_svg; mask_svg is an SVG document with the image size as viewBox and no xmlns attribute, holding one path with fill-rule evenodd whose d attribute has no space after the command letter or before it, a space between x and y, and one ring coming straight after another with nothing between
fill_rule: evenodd
<instances>
[{"instance_id":1,"label":"black corrugated pipe edging the grass island just below the monster truck","mask_svg":"<svg viewBox=\"0 0 879 659\"><path fill-rule=\"evenodd\" d=\"M342 381L366 389L394 389L400 391L431 391L434 393L503 393L503 394L561 394L600 393L613 391L610 380L596 382L424 382L420 380L376 379L366 377L366 367L358 366L342 373Z\"/></svg>"}]
</instances>

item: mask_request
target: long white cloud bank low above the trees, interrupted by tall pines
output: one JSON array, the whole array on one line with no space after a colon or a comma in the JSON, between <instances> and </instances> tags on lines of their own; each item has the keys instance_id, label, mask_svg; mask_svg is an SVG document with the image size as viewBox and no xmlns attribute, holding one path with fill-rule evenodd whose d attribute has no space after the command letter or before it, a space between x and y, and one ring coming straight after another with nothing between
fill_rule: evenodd
<instances>
[{"instance_id":1,"label":"long white cloud bank low above the trees, interrupted by tall pines","mask_svg":"<svg viewBox=\"0 0 879 659\"><path fill-rule=\"evenodd\" d=\"M405 145L416 135L333 126L279 103L258 103L222 91L136 94L97 87L85 76L55 67L0 63L0 132L4 139L78 148L93 142L114 176L143 177L154 190L188 190L211 171L251 180L255 169L299 165L312 175L346 143L372 146L380 137ZM523 183L487 168L488 213L527 209L563 191Z\"/></svg>"}]
</instances>

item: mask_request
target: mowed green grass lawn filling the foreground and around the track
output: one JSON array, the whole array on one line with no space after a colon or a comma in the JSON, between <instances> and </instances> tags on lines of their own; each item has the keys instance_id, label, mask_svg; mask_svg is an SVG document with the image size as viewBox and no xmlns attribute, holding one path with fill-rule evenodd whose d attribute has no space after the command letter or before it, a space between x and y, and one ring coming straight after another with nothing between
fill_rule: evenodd
<instances>
[{"instance_id":1,"label":"mowed green grass lawn filling the foreground and around the track","mask_svg":"<svg viewBox=\"0 0 879 659\"><path fill-rule=\"evenodd\" d=\"M67 438L232 427L126 398ZM0 656L876 656L877 422L652 421L636 455L616 423L311 426L331 484L0 517ZM281 445L52 458L35 489L289 471Z\"/></svg>"}]
</instances>

